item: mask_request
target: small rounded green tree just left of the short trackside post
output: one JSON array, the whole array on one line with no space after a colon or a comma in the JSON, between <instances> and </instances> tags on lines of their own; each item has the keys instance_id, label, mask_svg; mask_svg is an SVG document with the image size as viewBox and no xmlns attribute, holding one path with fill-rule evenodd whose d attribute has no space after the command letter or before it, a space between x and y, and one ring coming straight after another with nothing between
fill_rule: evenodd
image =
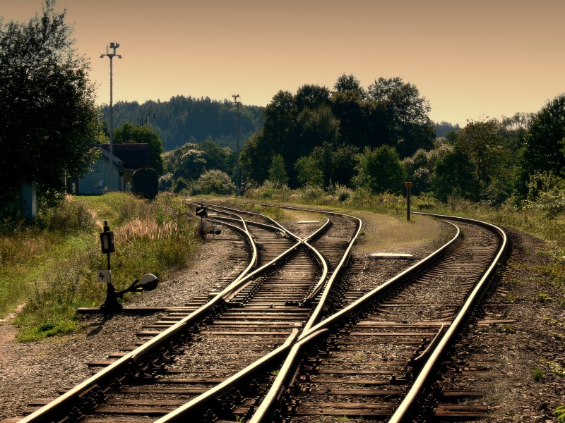
<instances>
[{"instance_id":1,"label":"small rounded green tree just left of the short trackside post","mask_svg":"<svg viewBox=\"0 0 565 423\"><path fill-rule=\"evenodd\" d=\"M381 145L376 149L365 147L359 154L357 185L379 194L402 192L405 171L393 147Z\"/></svg>"}]
</instances>

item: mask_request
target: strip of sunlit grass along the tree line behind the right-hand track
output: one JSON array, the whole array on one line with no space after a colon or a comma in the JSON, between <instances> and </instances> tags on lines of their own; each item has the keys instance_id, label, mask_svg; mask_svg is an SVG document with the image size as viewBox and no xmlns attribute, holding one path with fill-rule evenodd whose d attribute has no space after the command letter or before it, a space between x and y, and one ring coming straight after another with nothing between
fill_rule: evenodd
<instances>
[{"instance_id":1,"label":"strip of sunlit grass along the tree line behind the right-hand track","mask_svg":"<svg viewBox=\"0 0 565 423\"><path fill-rule=\"evenodd\" d=\"M264 195L265 192L268 195ZM345 194L347 195L344 195ZM250 200L262 201L268 197L275 204L309 204L320 208L331 207L332 209L362 216L362 212L379 213L391 216L389 225L379 234L376 244L386 247L386 239L391 243L397 235L401 236L426 236L422 233L416 234L417 227L410 227L405 222L406 200L402 195L391 195L388 193L371 195L367 190L348 190L344 187L323 190L316 187L306 187L298 190L283 188L277 190L268 186L247 190L245 197ZM543 207L536 204L525 204L517 207L513 202L506 202L499 207L489 207L487 204L475 204L467 200L451 197L446 204L438 202L430 195L412 196L412 211L427 212L433 214L446 214L452 216L463 216L471 219L487 221L500 226L509 226L519 231L529 233L537 238L546 240L549 247L546 251L537 254L547 256L549 264L540 266L538 271L544 276L547 283L552 284L559 290L559 298L549 298L547 294L540 293L537 300L540 302L557 301L560 307L565 307L565 213L548 214ZM417 225L422 216L412 214L412 222ZM426 222L428 224L428 222ZM396 228L394 227L396 226ZM390 233L390 235L387 234ZM433 232L433 231L432 231ZM441 235L444 237L445 235ZM438 244L442 240L438 240ZM399 243L410 242L410 239L400 239ZM394 244L394 243L393 243ZM371 243L369 243L371 245ZM518 298L508 298L516 302Z\"/></svg>"}]
</instances>

